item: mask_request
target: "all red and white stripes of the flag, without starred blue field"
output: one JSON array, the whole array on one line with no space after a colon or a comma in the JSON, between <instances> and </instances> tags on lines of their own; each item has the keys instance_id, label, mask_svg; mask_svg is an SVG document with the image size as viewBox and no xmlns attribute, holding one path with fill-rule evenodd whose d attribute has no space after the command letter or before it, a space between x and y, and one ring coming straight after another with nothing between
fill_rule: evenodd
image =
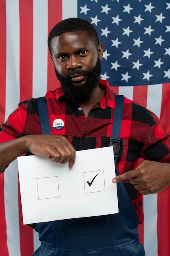
<instances>
[{"instance_id":1,"label":"all red and white stripes of the flag, without starred blue field","mask_svg":"<svg viewBox=\"0 0 170 256\"><path fill-rule=\"evenodd\" d=\"M59 85L47 37L57 22L70 17L77 17L77 0L0 1L0 122L18 102L42 96ZM170 84L113 90L155 112L164 130L170 130ZM146 256L170 255L169 202L169 188L144 196L145 221L139 233ZM16 161L0 175L0 220L0 256L31 256L39 240L33 229L22 224Z\"/></svg>"}]
</instances>

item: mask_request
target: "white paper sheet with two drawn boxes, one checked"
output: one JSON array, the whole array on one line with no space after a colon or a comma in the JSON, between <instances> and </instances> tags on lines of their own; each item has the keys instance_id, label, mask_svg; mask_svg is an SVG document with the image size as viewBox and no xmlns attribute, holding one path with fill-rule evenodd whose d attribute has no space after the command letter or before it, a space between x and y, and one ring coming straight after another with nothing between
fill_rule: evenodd
<instances>
[{"instance_id":1,"label":"white paper sheet with two drawn boxes, one checked","mask_svg":"<svg viewBox=\"0 0 170 256\"><path fill-rule=\"evenodd\" d=\"M76 152L73 168L48 156L18 157L24 224L118 212L113 147Z\"/></svg>"}]
</instances>

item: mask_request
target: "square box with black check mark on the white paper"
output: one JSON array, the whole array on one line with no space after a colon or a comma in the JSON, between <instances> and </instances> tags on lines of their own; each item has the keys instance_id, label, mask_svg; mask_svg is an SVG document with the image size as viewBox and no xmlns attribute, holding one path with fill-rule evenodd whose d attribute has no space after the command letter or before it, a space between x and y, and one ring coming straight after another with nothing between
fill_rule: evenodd
<instances>
[{"instance_id":1,"label":"square box with black check mark on the white paper","mask_svg":"<svg viewBox=\"0 0 170 256\"><path fill-rule=\"evenodd\" d=\"M104 170L84 172L85 193L105 191Z\"/></svg>"}]
</instances>

